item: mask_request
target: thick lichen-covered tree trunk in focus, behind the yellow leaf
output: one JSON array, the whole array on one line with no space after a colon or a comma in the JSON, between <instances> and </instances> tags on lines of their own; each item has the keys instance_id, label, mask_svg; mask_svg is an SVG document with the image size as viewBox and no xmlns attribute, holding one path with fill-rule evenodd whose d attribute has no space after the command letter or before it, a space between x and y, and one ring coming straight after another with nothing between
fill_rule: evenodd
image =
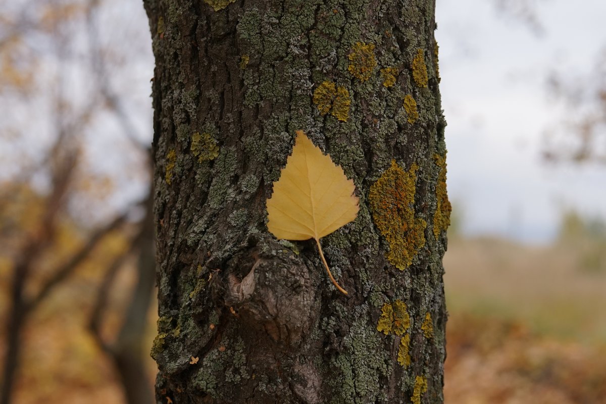
<instances>
[{"instance_id":1,"label":"thick lichen-covered tree trunk in focus, behind the yellow leaf","mask_svg":"<svg viewBox=\"0 0 606 404\"><path fill-rule=\"evenodd\" d=\"M156 70L167 403L441 403L450 204L433 0L145 0ZM265 200L310 139L360 213L278 241Z\"/></svg>"}]
</instances>

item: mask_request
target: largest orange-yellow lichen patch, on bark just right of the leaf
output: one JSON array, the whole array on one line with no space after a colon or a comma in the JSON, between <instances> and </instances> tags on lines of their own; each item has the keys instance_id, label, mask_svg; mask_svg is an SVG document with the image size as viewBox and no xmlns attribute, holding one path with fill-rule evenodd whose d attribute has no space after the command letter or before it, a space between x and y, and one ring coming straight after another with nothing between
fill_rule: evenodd
<instances>
[{"instance_id":1,"label":"largest orange-yellow lichen patch, on bark just right of the leaf","mask_svg":"<svg viewBox=\"0 0 606 404\"><path fill-rule=\"evenodd\" d=\"M404 271L425 245L425 220L415 217L416 163L404 171L395 160L370 187L373 220L387 239L387 260Z\"/></svg>"}]
</instances>

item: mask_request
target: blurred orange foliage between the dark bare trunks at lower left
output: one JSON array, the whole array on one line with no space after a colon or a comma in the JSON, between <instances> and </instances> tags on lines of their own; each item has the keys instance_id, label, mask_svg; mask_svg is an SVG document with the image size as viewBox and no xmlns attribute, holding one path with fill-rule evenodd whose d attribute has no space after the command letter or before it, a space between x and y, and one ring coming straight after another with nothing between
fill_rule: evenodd
<instances>
[{"instance_id":1,"label":"blurred orange foliage between the dark bare trunks at lower left","mask_svg":"<svg viewBox=\"0 0 606 404\"><path fill-rule=\"evenodd\" d=\"M5 324L10 308L10 273L15 253L37 228L45 199L27 185L0 185L0 193L10 188L12 198L0 209L0 323ZM122 386L114 364L99 348L87 329L95 296L102 277L113 259L123 254L130 242L130 229L113 231L82 262L73 276L59 285L32 313L22 335L22 361L18 370L15 403L119 403ZM65 262L86 241L87 230L62 214L51 245L36 260L28 278L27 295L35 294L53 268ZM103 334L108 340L121 327L122 312L130 302L136 282L135 262L128 261L114 283ZM148 340L153 339L155 308L150 310ZM2 327L0 346L5 346ZM4 349L0 362L4 360ZM148 359L150 375L155 373ZM150 383L151 380L150 380ZM34 387L32 387L34 386Z\"/></svg>"}]
</instances>

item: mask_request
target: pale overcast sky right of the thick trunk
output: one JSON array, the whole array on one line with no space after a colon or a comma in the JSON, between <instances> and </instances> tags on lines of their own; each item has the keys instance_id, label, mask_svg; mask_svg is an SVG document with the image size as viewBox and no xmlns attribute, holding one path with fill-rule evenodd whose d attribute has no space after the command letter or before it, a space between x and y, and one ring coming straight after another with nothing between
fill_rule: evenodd
<instances>
[{"instance_id":1,"label":"pale overcast sky right of the thick trunk","mask_svg":"<svg viewBox=\"0 0 606 404\"><path fill-rule=\"evenodd\" d=\"M493 2L438 0L448 191L466 233L544 242L564 208L606 219L606 167L554 167L540 153L545 131L562 122L548 73L582 73L596 60L606 2L534 3L542 35Z\"/></svg>"}]
</instances>

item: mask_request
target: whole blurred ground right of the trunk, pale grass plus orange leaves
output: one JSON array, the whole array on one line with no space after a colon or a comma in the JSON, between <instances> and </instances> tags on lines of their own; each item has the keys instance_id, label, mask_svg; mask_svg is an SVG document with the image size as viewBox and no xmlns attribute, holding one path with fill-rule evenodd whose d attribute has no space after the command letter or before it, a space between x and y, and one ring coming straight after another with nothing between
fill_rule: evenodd
<instances>
[{"instance_id":1,"label":"whole blurred ground right of the trunk, pale grass plus orange leaves","mask_svg":"<svg viewBox=\"0 0 606 404\"><path fill-rule=\"evenodd\" d=\"M447 404L606 403L602 242L587 234L542 247L450 237ZM590 267L588 255L597 257Z\"/></svg>"}]
</instances>

